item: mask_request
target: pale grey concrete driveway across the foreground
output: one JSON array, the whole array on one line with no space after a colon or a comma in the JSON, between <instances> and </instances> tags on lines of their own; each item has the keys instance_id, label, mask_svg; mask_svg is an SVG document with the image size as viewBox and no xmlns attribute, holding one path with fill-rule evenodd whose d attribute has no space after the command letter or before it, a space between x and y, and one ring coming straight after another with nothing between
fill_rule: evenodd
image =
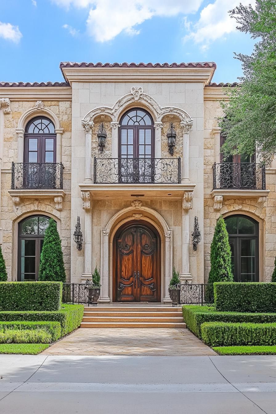
<instances>
[{"instance_id":1,"label":"pale grey concrete driveway across the foreground","mask_svg":"<svg viewBox=\"0 0 276 414\"><path fill-rule=\"evenodd\" d=\"M9 414L275 414L276 356L0 355Z\"/></svg>"}]
</instances>

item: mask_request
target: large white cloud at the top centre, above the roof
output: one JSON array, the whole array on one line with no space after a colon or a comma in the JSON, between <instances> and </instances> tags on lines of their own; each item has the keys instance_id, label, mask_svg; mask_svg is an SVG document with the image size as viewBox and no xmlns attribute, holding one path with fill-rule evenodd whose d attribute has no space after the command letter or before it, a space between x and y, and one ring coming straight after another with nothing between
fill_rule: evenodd
<instances>
[{"instance_id":1,"label":"large white cloud at the top centre, above the roof","mask_svg":"<svg viewBox=\"0 0 276 414\"><path fill-rule=\"evenodd\" d=\"M98 42L121 32L139 34L137 25L154 16L172 17L199 9L203 0L52 0L63 7L89 8L88 33Z\"/></svg>"}]
</instances>

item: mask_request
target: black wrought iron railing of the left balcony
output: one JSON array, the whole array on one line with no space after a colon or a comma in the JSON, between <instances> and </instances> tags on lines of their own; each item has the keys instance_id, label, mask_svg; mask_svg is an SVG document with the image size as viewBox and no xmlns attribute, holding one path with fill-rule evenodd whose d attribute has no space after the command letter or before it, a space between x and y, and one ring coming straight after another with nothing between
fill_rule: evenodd
<instances>
[{"instance_id":1,"label":"black wrought iron railing of the left balcony","mask_svg":"<svg viewBox=\"0 0 276 414\"><path fill-rule=\"evenodd\" d=\"M12 190L63 188L61 163L12 163Z\"/></svg>"}]
</instances>

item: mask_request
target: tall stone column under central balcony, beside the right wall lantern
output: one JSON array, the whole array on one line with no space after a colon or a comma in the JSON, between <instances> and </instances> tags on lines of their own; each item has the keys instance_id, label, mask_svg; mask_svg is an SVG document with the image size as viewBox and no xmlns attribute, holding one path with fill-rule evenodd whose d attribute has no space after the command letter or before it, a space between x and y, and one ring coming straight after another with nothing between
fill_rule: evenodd
<instances>
[{"instance_id":1,"label":"tall stone column under central balcony, beside the right wall lantern","mask_svg":"<svg viewBox=\"0 0 276 414\"><path fill-rule=\"evenodd\" d=\"M193 193L185 191L182 200L182 272L180 274L181 283L192 283L190 274L190 217L189 210L192 209Z\"/></svg>"}]
</instances>

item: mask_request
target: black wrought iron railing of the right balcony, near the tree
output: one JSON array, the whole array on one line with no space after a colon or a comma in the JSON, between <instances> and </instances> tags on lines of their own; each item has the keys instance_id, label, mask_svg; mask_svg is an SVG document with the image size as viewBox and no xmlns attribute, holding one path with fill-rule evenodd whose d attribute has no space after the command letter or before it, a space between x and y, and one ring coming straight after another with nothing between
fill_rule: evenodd
<instances>
[{"instance_id":1,"label":"black wrought iron railing of the right balcony, near the tree","mask_svg":"<svg viewBox=\"0 0 276 414\"><path fill-rule=\"evenodd\" d=\"M216 189L265 190L265 166L254 162L213 165L213 190Z\"/></svg>"}]
</instances>

